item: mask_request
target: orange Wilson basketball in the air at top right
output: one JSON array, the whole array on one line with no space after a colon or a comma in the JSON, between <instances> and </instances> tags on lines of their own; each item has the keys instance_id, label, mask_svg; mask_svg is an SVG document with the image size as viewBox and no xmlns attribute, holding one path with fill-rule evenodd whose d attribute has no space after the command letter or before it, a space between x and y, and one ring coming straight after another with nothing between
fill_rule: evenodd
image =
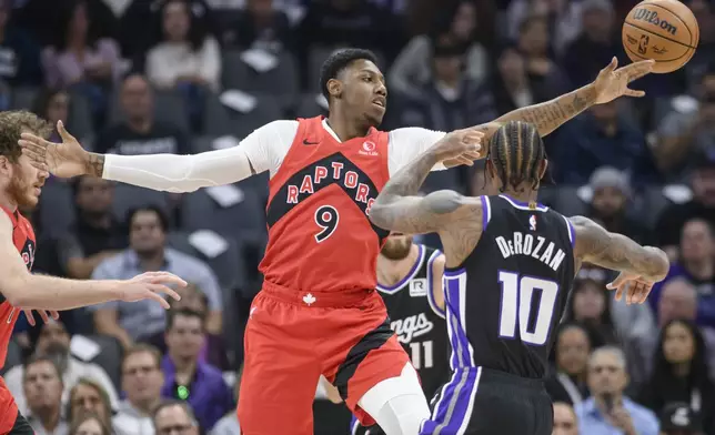
<instances>
[{"instance_id":1,"label":"orange Wilson basketball in the air at top right","mask_svg":"<svg viewBox=\"0 0 715 435\"><path fill-rule=\"evenodd\" d=\"M695 53L701 30L689 8L677 0L645 0L623 23L623 48L636 62L655 60L653 72L673 72Z\"/></svg>"}]
</instances>

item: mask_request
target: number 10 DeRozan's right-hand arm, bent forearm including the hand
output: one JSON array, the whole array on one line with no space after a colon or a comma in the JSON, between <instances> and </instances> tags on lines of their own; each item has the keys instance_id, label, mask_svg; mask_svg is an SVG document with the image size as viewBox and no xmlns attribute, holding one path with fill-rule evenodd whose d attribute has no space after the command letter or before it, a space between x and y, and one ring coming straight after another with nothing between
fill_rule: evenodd
<instances>
[{"instance_id":1,"label":"number 10 DeRozan's right-hand arm, bent forearm including the hand","mask_svg":"<svg viewBox=\"0 0 715 435\"><path fill-rule=\"evenodd\" d=\"M576 260L621 272L621 276L608 284L610 289L617 290L616 299L630 285L627 302L644 302L653 284L667 275L669 263L662 250L641 246L625 235L604 230L587 218L574 216L570 221L576 234Z\"/></svg>"}]
</instances>

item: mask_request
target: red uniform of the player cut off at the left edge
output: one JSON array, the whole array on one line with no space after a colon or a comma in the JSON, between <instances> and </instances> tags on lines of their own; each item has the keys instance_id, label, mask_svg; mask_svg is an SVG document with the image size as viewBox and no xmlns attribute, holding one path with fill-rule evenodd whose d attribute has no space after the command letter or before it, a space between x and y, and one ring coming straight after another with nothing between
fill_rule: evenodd
<instances>
[{"instance_id":1,"label":"red uniform of the player cut off at the left edge","mask_svg":"<svg viewBox=\"0 0 715 435\"><path fill-rule=\"evenodd\" d=\"M34 262L34 230L32 230L32 224L19 212L7 210L6 208L0 206L2 212L10 218L12 222L12 243L18 250L22 260L24 261L28 271L32 269L32 263ZM2 261L0 259L0 261ZM1 280L2 277L0 277ZM14 330L14 323L20 316L19 308L10 305L10 302L0 293L0 367L4 366L4 360L8 354L8 345L10 344L10 338L12 336L12 330ZM8 391L7 386L2 378L0 378L0 433L7 433L10 431L14 424L14 418L18 415L18 406ZM9 426L8 426L9 425ZM8 427L6 427L8 426Z\"/></svg>"}]
</instances>

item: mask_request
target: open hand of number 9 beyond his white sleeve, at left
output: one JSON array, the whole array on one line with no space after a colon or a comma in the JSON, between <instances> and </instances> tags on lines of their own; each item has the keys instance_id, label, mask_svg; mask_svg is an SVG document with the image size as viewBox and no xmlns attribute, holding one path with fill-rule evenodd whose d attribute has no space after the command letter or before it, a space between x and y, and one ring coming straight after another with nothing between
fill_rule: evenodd
<instances>
[{"instance_id":1,"label":"open hand of number 9 beyond his white sleeve, at left","mask_svg":"<svg viewBox=\"0 0 715 435\"><path fill-rule=\"evenodd\" d=\"M32 133L22 133L18 142L22 153L30 158L33 166L49 171L52 175L69 179L88 173L89 155L82 145L58 121L57 131L62 143L50 142Z\"/></svg>"}]
</instances>

